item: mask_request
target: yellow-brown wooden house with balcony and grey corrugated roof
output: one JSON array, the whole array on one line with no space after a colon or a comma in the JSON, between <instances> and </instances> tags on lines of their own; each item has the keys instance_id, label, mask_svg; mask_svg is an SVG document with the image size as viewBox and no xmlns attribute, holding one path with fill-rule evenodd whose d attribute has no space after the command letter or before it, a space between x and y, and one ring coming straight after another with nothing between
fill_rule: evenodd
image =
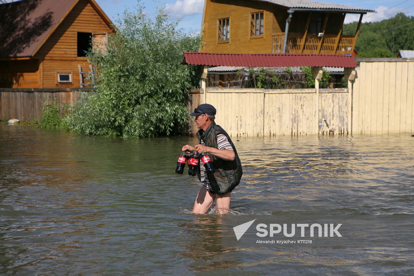
<instances>
[{"instance_id":1,"label":"yellow-brown wooden house with balcony and grey corrugated roof","mask_svg":"<svg viewBox=\"0 0 414 276\"><path fill-rule=\"evenodd\" d=\"M200 52L353 54L365 8L310 0L205 0ZM347 13L359 14L343 35Z\"/></svg>"}]
</instances>

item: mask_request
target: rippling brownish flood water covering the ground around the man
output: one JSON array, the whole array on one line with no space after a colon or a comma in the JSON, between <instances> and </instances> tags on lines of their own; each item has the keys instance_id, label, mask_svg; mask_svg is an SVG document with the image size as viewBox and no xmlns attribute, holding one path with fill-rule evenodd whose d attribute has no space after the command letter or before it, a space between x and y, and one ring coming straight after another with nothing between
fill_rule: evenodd
<instances>
[{"instance_id":1,"label":"rippling brownish flood water covering the ground around the man","mask_svg":"<svg viewBox=\"0 0 414 276\"><path fill-rule=\"evenodd\" d=\"M414 214L411 133L233 140L244 172L233 216ZM174 172L181 146L196 142L0 124L0 273L414 274L412 243L345 255L223 247L214 209L189 212L197 179Z\"/></svg>"}]
</instances>

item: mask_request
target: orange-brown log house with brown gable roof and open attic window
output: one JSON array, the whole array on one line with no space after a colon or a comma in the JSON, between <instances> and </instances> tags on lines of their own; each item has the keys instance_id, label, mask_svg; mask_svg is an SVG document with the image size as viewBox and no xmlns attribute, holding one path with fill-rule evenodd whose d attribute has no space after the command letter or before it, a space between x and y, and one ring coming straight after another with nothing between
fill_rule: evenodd
<instances>
[{"instance_id":1,"label":"orange-brown log house with brown gable roof and open attic window","mask_svg":"<svg viewBox=\"0 0 414 276\"><path fill-rule=\"evenodd\" d=\"M0 88L83 87L86 51L113 31L94 0L22 0L0 5L0 14Z\"/></svg>"}]
</instances>

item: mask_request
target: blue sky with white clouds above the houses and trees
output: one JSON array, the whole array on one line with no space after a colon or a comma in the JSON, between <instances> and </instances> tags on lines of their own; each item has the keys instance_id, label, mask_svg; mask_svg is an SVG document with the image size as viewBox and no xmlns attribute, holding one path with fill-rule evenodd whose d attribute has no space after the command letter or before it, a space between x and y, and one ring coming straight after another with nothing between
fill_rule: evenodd
<instances>
[{"instance_id":1,"label":"blue sky with white clouds above the houses and trees","mask_svg":"<svg viewBox=\"0 0 414 276\"><path fill-rule=\"evenodd\" d=\"M122 14L125 8L133 10L138 3L137 0L96 0L96 2L113 21L115 21L114 19L118 14ZM362 7L377 11L377 13L374 14L368 13L367 15L364 15L363 22L387 19L393 17L397 12L404 12L406 15L411 16L414 15L414 0L350 0L347 2L344 0L330 0L325 2ZM141 0L141 5L146 7L145 11L149 14L154 14L156 5L165 5L171 19L181 17L179 27L183 28L185 31L198 32L201 29L204 0ZM359 15L349 14L345 18L345 23L358 19Z\"/></svg>"}]
</instances>

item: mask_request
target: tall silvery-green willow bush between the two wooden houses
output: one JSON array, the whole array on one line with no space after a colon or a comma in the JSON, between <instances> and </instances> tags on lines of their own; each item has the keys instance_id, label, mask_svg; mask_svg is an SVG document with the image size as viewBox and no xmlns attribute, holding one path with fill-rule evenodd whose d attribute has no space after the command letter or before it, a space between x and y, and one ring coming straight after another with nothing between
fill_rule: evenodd
<instances>
[{"instance_id":1,"label":"tall silvery-green willow bush between the two wooden houses","mask_svg":"<svg viewBox=\"0 0 414 276\"><path fill-rule=\"evenodd\" d=\"M149 137L179 133L188 123L188 91L197 87L197 68L181 65L184 51L200 39L169 23L165 9L152 19L137 7L116 21L107 53L89 53L96 66L96 92L82 94L67 118L78 133Z\"/></svg>"}]
</instances>

